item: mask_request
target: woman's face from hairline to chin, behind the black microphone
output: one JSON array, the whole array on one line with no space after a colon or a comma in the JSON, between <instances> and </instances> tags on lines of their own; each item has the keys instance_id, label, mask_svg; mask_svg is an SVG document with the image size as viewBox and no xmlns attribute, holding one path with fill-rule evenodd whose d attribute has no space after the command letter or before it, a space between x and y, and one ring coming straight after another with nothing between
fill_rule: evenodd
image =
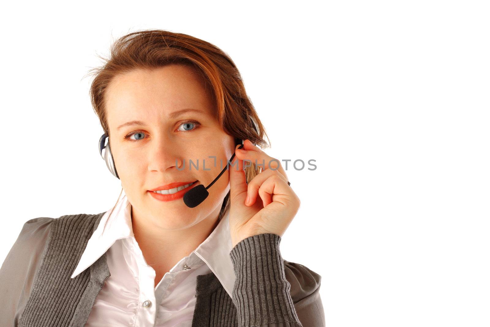
<instances>
[{"instance_id":1,"label":"woman's face from hairline to chin, behind the black microphone","mask_svg":"<svg viewBox=\"0 0 490 327\"><path fill-rule=\"evenodd\" d=\"M178 64L135 70L113 79L105 100L111 152L133 219L137 215L161 228L183 229L210 215L217 218L229 191L228 174L194 208L187 207L182 198L157 200L149 191L177 182L208 186L235 151L234 137L216 120L203 77ZM122 126L132 121L141 123ZM216 165L209 156L216 156ZM195 166L198 160L198 169L190 160Z\"/></svg>"}]
</instances>

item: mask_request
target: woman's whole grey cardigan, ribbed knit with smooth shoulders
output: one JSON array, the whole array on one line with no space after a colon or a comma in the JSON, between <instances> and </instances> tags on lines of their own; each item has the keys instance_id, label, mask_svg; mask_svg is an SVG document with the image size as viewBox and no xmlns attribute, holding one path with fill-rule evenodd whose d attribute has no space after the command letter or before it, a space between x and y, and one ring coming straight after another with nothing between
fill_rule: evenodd
<instances>
[{"instance_id":1,"label":"woman's whole grey cardigan, ribbed knit with smooth shoulders","mask_svg":"<svg viewBox=\"0 0 490 327\"><path fill-rule=\"evenodd\" d=\"M0 269L1 326L84 326L110 276L106 253L70 278L105 212L27 221ZM232 297L214 273L196 279L192 327L324 327L321 277L283 260L281 237L264 233L230 252Z\"/></svg>"}]
</instances>

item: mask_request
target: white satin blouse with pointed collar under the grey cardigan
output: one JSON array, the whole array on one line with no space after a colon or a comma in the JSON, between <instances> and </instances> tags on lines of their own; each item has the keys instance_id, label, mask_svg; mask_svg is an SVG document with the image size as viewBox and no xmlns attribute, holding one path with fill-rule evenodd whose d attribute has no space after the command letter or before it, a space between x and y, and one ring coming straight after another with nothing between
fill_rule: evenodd
<instances>
[{"instance_id":1,"label":"white satin blouse with pointed collar under the grey cardigan","mask_svg":"<svg viewBox=\"0 0 490 327\"><path fill-rule=\"evenodd\" d=\"M111 276L105 280L85 326L191 327L196 277L210 272L232 296L235 273L229 257L229 210L208 238L177 262L156 287L155 270L146 263L134 238L131 203L124 191L109 217L111 210L100 219L71 276L76 277L106 252Z\"/></svg>"}]
</instances>

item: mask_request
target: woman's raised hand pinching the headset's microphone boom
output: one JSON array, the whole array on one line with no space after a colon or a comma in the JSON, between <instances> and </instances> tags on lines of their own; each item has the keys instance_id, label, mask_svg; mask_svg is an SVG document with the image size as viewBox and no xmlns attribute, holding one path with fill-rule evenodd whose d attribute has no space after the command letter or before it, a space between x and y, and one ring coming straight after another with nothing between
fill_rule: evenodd
<instances>
[{"instance_id":1,"label":"woman's raised hand pinching the headset's microphone boom","mask_svg":"<svg viewBox=\"0 0 490 327\"><path fill-rule=\"evenodd\" d=\"M299 209L300 201L288 185L280 161L245 140L243 149L235 148L229 166L230 232L233 247L253 235L272 233L282 236ZM244 162L264 163L262 172L246 183ZM237 168L238 161L238 168ZM248 164L250 164L248 162ZM259 166L257 166L259 167ZM248 199L249 201L245 201Z\"/></svg>"}]
</instances>

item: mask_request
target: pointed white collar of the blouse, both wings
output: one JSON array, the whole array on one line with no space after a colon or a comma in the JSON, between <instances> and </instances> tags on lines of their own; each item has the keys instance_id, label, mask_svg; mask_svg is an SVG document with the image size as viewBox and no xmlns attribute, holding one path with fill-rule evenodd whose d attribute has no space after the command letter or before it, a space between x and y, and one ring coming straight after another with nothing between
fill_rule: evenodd
<instances>
[{"instance_id":1,"label":"pointed white collar of the blouse, both wings","mask_svg":"<svg viewBox=\"0 0 490 327\"><path fill-rule=\"evenodd\" d=\"M233 249L229 224L230 210L221 218L218 226L211 234L193 251L209 269L218 277L223 288L232 297L235 283L235 271L230 258ZM108 210L100 218L97 229L87 242L78 265L71 278L78 276L90 267L104 254L118 239L134 237L131 223L131 203L123 191L121 201L114 208Z\"/></svg>"}]
</instances>

